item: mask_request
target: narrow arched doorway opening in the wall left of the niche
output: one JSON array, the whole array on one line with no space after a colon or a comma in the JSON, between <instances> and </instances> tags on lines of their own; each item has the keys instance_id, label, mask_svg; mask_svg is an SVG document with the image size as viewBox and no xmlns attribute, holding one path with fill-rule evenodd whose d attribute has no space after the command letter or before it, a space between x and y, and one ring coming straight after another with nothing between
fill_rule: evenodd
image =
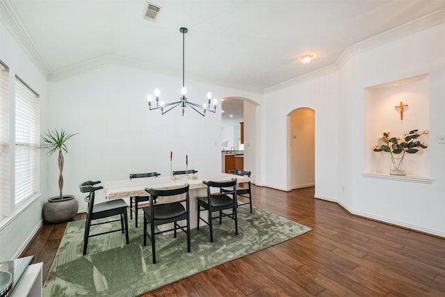
<instances>
[{"instance_id":1,"label":"narrow arched doorway opening in the wall left of the niche","mask_svg":"<svg viewBox=\"0 0 445 297\"><path fill-rule=\"evenodd\" d=\"M288 185L305 188L315 185L315 111L300 108L288 115Z\"/></svg>"}]
</instances>

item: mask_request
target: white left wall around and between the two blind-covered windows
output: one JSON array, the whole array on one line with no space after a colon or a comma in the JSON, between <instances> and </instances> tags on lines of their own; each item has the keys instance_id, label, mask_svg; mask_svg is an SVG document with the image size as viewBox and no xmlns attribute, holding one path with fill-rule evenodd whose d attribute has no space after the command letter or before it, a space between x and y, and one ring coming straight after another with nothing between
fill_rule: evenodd
<instances>
[{"instance_id":1,"label":"white left wall around and between the two blind-covered windows","mask_svg":"<svg viewBox=\"0 0 445 297\"><path fill-rule=\"evenodd\" d=\"M10 138L14 140L15 74L40 95L40 102L45 102L47 99L47 83L1 22L0 59L9 67ZM10 197L14 200L15 168L13 164L15 164L15 154L13 146L10 146L10 164ZM41 184L41 191L44 191L42 181ZM40 196L17 205L11 216L0 220L0 262L18 257L41 223L42 200L40 200Z\"/></svg>"}]
</instances>

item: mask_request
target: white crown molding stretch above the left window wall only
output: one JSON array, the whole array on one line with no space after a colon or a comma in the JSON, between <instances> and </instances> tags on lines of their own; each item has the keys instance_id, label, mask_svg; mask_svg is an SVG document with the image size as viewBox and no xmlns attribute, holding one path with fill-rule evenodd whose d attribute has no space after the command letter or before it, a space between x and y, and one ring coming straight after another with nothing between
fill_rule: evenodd
<instances>
[{"instance_id":1,"label":"white crown molding stretch above the left window wall only","mask_svg":"<svg viewBox=\"0 0 445 297\"><path fill-rule=\"evenodd\" d=\"M16 40L19 46L22 47L25 54L29 56L31 61L44 75L44 77L48 77L51 73L51 69L44 60L42 54L40 54L38 47L35 46L33 38L31 38L28 31L26 31L22 21L15 11L13 3L10 0L0 1L0 15L1 22L4 26L6 26L9 33L13 35L13 38Z\"/></svg>"}]
</instances>

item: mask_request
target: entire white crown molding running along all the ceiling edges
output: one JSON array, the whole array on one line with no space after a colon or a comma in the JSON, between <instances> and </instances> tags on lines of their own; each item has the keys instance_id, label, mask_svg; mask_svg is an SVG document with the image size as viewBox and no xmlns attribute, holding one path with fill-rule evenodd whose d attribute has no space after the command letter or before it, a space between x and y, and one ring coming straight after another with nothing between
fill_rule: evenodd
<instances>
[{"instance_id":1,"label":"entire white crown molding running along all the ceiling edges","mask_svg":"<svg viewBox=\"0 0 445 297\"><path fill-rule=\"evenodd\" d=\"M91 70L95 70L99 67L103 67L105 65L109 65L112 63L127 65L129 67L138 67L144 70L156 71L163 74L172 75L171 70L165 70L164 67L159 65L153 65L151 63L145 63L141 61L132 60L130 58L124 58L120 56L114 55L106 55L98 58L91 59L89 61L85 61L82 63L77 63L75 65L70 65L67 67L60 68L58 70L51 70L49 65L47 65L44 60L42 54L38 50L38 47L35 46L31 36L26 31L22 21L19 19L13 3L11 0L1 0L0 1L0 15L1 22L6 26L8 31L13 38L17 41L20 47L24 49L25 53L31 58L31 61L36 65L38 70L46 77L49 81L60 81L61 79L67 79L70 77L74 77L84 72L88 72ZM252 86L244 86L235 84L233 82L220 81L216 83L219 86L227 86L229 88L239 88L242 90L248 90L254 93L269 93L273 90L278 90L281 88L286 88L288 86L292 86L296 83L300 83L301 81L306 81L307 79L314 79L315 77L320 77L326 74L330 74L334 71L339 70L343 65L345 65L352 56L355 54L362 53L363 51L367 51L369 49L373 49L380 45L384 45L388 42L403 38L412 33L416 33L419 31L423 31L432 26L437 26L438 24L442 24L445 22L445 9L438 10L436 13L432 13L425 17L421 17L420 19L416 19L410 23L403 24L402 26L398 26L397 28L391 29L385 33L374 36L373 38L369 38L368 40L364 40L355 45L352 45L345 49L341 56L337 59L337 61L333 65L329 65L327 67L323 67L314 72L310 72L308 74L304 74L300 77L296 77L294 79L289 79L288 81L284 81L282 83L277 83L268 88L252 87ZM195 79L200 81L209 81L209 77L195 76ZM213 79L212 79L213 80Z\"/></svg>"}]
</instances>

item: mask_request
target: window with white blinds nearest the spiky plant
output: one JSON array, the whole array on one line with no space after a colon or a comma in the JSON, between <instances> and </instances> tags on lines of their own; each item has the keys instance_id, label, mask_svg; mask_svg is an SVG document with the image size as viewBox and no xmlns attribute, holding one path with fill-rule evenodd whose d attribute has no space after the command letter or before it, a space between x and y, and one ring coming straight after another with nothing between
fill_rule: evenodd
<instances>
[{"instance_id":1,"label":"window with white blinds nearest the spiky plant","mask_svg":"<svg viewBox=\"0 0 445 297\"><path fill-rule=\"evenodd\" d=\"M39 96L15 77L15 203L39 191Z\"/></svg>"}]
</instances>

